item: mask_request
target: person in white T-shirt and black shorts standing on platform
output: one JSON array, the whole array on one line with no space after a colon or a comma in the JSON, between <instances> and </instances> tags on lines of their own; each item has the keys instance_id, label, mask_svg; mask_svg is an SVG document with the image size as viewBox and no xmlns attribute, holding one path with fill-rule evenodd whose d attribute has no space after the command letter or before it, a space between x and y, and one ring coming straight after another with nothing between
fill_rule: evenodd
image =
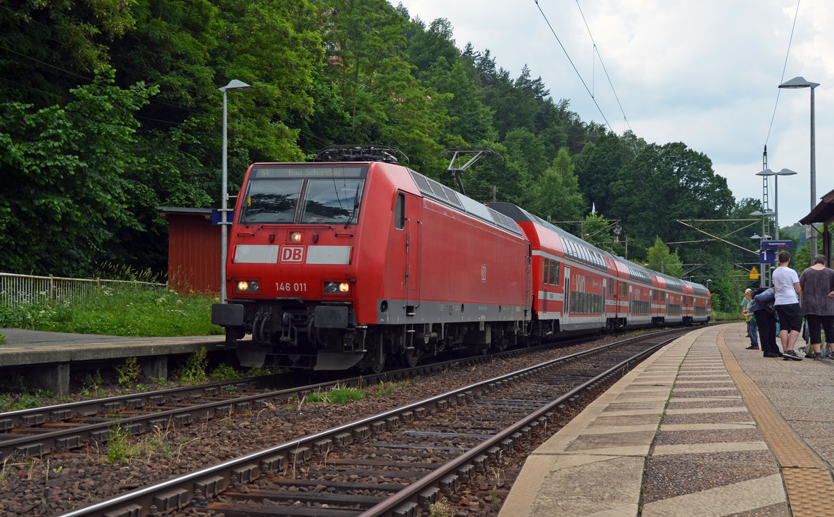
<instances>
[{"instance_id":1,"label":"person in white T-shirt and black shorts standing on platform","mask_svg":"<svg viewBox=\"0 0 834 517\"><path fill-rule=\"evenodd\" d=\"M799 275L788 267L791 263L791 253L779 253L779 267L773 271L773 289L776 293L776 314L779 316L779 338L782 342L782 356L794 361L801 361L793 347L799 333L802 331L802 311L799 307Z\"/></svg>"}]
</instances>

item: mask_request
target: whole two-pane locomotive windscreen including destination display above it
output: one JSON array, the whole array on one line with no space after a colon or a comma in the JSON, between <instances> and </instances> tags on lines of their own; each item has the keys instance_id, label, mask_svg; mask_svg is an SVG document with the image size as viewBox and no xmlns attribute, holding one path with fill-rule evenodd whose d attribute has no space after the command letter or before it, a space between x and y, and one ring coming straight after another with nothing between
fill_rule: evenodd
<instances>
[{"instance_id":1,"label":"whole two-pane locomotive windscreen including destination display above it","mask_svg":"<svg viewBox=\"0 0 834 517\"><path fill-rule=\"evenodd\" d=\"M239 221L354 224L367 166L253 167Z\"/></svg>"}]
</instances>

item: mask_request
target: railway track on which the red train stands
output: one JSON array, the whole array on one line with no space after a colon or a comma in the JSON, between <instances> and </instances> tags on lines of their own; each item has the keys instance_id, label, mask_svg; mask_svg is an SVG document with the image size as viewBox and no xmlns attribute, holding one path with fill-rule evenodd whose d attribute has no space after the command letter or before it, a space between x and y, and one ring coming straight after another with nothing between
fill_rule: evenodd
<instances>
[{"instance_id":1,"label":"railway track on which the red train stands","mask_svg":"<svg viewBox=\"0 0 834 517\"><path fill-rule=\"evenodd\" d=\"M545 348L543 345L527 350ZM317 377L329 380L314 384L303 384L309 382L309 373L265 375L0 413L0 460L21 460L103 443L116 426L129 435L143 434L170 425L189 425L259 410L269 404L287 404L289 400L302 399L334 386L414 378L461 364L480 364L495 357L522 353L524 350L512 350L452 359L350 379L334 379L331 372L325 372Z\"/></svg>"}]
</instances>

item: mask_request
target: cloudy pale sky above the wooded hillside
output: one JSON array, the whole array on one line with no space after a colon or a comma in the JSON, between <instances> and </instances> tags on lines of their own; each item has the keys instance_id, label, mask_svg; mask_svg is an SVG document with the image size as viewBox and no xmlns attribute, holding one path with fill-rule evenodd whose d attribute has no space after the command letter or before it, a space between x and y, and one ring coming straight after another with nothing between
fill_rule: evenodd
<instances>
[{"instance_id":1,"label":"cloudy pale sky above the wooded hillside","mask_svg":"<svg viewBox=\"0 0 834 517\"><path fill-rule=\"evenodd\" d=\"M555 101L569 100L571 111L585 122L607 120L617 134L631 128L648 143L683 142L706 154L736 200L761 199L756 173L767 144L768 168L797 173L778 184L782 227L811 211L811 90L777 87L796 76L820 83L814 90L813 205L834 188L831 0L389 3L402 3L411 18L427 26L436 18L448 19L458 48L466 43L479 52L488 48L512 78L526 64ZM772 210L772 181L769 191ZM761 227L750 233L761 233Z\"/></svg>"}]
</instances>

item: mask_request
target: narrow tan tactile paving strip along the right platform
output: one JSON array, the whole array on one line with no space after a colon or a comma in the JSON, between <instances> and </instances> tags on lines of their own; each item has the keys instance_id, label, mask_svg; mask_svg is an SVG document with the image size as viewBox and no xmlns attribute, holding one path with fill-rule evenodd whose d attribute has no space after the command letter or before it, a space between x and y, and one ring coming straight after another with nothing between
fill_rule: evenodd
<instances>
[{"instance_id":1,"label":"narrow tan tactile paving strip along the right platform","mask_svg":"<svg viewBox=\"0 0 834 517\"><path fill-rule=\"evenodd\" d=\"M776 455L791 514L794 517L834 515L834 480L827 464L796 436L771 401L747 377L726 345L724 330L718 335L718 348L721 349L726 370L756 420L765 443Z\"/></svg>"}]
</instances>

